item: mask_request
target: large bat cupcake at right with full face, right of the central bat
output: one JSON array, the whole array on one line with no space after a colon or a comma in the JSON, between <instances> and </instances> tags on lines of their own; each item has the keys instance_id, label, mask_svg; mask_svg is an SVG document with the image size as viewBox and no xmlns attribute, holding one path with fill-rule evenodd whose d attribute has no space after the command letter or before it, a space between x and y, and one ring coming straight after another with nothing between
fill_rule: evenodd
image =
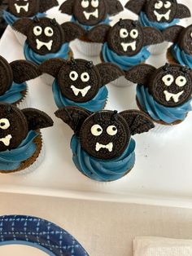
<instances>
[{"instance_id":1,"label":"large bat cupcake at right with full face, right of the central bat","mask_svg":"<svg viewBox=\"0 0 192 256\"><path fill-rule=\"evenodd\" d=\"M139 64L126 74L137 82L137 105L156 123L156 130L169 130L185 120L192 103L192 72L179 64L165 64L156 69Z\"/></svg>"}]
</instances>

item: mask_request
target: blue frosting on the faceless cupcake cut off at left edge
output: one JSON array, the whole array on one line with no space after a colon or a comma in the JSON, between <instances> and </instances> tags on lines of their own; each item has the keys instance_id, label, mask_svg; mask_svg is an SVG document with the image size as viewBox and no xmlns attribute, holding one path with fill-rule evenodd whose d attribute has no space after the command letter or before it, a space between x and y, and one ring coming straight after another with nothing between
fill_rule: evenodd
<instances>
[{"instance_id":1,"label":"blue frosting on the faceless cupcake cut off at left edge","mask_svg":"<svg viewBox=\"0 0 192 256\"><path fill-rule=\"evenodd\" d=\"M22 91L27 89L25 82L18 84L13 82L9 90L7 90L4 95L0 96L0 102L7 102L8 104L14 104L18 100L22 99Z\"/></svg>"}]
</instances>

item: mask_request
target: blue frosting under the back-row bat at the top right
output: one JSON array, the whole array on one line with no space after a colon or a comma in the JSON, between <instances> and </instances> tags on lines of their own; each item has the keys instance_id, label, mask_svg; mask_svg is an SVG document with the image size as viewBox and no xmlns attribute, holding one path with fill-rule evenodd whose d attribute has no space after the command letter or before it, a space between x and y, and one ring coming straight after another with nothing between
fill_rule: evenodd
<instances>
[{"instance_id":1,"label":"blue frosting under the back-row bat at the top right","mask_svg":"<svg viewBox=\"0 0 192 256\"><path fill-rule=\"evenodd\" d=\"M172 22L157 22L157 21L151 21L148 19L146 14L144 12L140 12L139 14L139 21L143 26L150 26L150 27L155 27L156 29L159 30L164 30L167 29L168 27L171 27L177 23L179 23L179 19L174 19Z\"/></svg>"}]
</instances>

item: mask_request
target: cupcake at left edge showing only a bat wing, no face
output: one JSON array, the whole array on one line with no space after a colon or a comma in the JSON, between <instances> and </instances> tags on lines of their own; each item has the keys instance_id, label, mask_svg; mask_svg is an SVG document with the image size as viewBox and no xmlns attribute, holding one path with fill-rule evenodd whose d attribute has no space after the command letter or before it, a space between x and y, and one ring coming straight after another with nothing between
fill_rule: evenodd
<instances>
[{"instance_id":1,"label":"cupcake at left edge showing only a bat wing, no face","mask_svg":"<svg viewBox=\"0 0 192 256\"><path fill-rule=\"evenodd\" d=\"M36 64L27 60L15 60L8 64L0 56L0 102L14 104L17 108L29 107L26 81L40 76Z\"/></svg>"}]
</instances>

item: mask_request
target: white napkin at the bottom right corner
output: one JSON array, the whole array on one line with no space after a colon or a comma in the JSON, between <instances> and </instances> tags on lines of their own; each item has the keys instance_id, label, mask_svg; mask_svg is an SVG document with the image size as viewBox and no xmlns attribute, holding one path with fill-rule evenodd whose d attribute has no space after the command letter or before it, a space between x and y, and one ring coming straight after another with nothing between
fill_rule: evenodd
<instances>
[{"instance_id":1,"label":"white napkin at the bottom right corner","mask_svg":"<svg viewBox=\"0 0 192 256\"><path fill-rule=\"evenodd\" d=\"M140 236L133 240L134 256L192 256L192 240Z\"/></svg>"}]
</instances>

